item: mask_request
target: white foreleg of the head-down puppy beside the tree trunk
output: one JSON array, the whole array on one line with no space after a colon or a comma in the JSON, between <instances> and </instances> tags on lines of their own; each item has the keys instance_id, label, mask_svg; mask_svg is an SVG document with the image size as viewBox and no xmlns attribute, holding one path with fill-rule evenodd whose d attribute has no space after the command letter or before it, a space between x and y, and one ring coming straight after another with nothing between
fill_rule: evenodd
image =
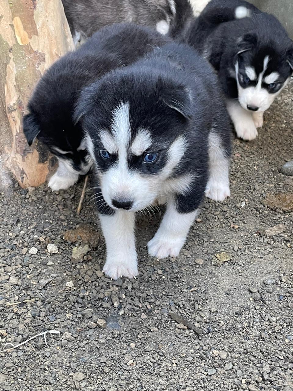
<instances>
[{"instance_id":1,"label":"white foreleg of the head-down puppy beside the tree trunk","mask_svg":"<svg viewBox=\"0 0 293 391\"><path fill-rule=\"evenodd\" d=\"M67 160L58 158L58 169L51 176L48 186L53 190L65 190L74 185L79 179L79 173L74 171Z\"/></svg>"}]
</instances>

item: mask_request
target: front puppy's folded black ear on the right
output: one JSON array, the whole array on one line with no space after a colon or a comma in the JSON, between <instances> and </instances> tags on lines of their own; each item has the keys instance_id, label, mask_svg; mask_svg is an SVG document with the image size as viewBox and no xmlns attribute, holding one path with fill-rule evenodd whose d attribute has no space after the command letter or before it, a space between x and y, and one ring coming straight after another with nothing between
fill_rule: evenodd
<instances>
[{"instance_id":1,"label":"front puppy's folded black ear on the right","mask_svg":"<svg viewBox=\"0 0 293 391\"><path fill-rule=\"evenodd\" d=\"M185 86L165 86L161 91L161 99L184 118L191 119L192 97L188 88Z\"/></svg>"}]
</instances>

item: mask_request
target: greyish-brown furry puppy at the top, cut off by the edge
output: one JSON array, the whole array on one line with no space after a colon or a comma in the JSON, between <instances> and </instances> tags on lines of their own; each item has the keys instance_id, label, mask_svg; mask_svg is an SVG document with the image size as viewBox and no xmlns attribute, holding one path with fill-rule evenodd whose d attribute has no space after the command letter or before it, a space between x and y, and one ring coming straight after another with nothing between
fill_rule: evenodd
<instances>
[{"instance_id":1,"label":"greyish-brown furry puppy at the top, cut off by the edge","mask_svg":"<svg viewBox=\"0 0 293 391\"><path fill-rule=\"evenodd\" d=\"M180 0L182 1L182 0ZM188 2L188 0L185 0ZM75 43L105 25L133 22L167 34L176 15L176 0L62 0Z\"/></svg>"}]
</instances>

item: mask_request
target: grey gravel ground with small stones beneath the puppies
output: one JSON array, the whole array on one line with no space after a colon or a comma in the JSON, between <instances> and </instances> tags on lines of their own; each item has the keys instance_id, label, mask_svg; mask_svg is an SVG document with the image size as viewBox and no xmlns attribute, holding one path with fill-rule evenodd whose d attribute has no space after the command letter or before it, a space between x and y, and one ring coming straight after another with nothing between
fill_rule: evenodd
<instances>
[{"instance_id":1,"label":"grey gravel ground with small stones beneath the puppies","mask_svg":"<svg viewBox=\"0 0 293 391\"><path fill-rule=\"evenodd\" d=\"M82 182L2 194L2 344L59 334L0 353L0 389L292 390L293 177L278 171L292 127L293 83L257 140L234 140L232 196L205 199L178 258L148 257L160 217L140 218L137 280L102 275L90 192L76 215Z\"/></svg>"}]
</instances>

